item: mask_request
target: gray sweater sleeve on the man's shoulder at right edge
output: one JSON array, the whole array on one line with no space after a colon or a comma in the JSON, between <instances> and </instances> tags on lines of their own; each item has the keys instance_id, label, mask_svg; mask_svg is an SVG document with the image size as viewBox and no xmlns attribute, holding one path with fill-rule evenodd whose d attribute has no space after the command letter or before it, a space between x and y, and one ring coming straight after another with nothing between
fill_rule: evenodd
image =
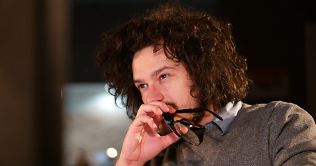
<instances>
[{"instance_id":1,"label":"gray sweater sleeve on the man's shoulder at right edge","mask_svg":"<svg viewBox=\"0 0 316 166\"><path fill-rule=\"evenodd\" d=\"M273 165L316 165L316 125L306 111L295 104L278 102L270 120Z\"/></svg>"}]
</instances>

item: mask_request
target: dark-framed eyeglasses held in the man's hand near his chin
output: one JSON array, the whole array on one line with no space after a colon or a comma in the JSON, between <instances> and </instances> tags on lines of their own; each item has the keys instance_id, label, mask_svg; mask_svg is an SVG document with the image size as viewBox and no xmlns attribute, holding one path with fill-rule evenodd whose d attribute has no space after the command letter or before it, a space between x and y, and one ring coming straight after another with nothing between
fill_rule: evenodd
<instances>
[{"instance_id":1,"label":"dark-framed eyeglasses held in the man's hand near his chin","mask_svg":"<svg viewBox=\"0 0 316 166\"><path fill-rule=\"evenodd\" d=\"M178 113L196 113L202 111L208 111L219 120L223 120L222 117L208 109L181 109L176 110L176 113L163 113L164 120L160 122L158 127L160 135L165 136L173 131L186 142L189 142L192 145L200 145L203 141L205 127L185 118L174 121L174 115Z\"/></svg>"}]
</instances>

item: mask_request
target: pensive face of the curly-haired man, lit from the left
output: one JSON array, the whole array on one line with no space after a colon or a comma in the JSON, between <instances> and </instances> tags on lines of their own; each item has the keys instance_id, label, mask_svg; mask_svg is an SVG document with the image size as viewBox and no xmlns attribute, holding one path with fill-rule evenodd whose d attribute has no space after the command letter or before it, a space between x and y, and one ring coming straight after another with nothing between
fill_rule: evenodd
<instances>
[{"instance_id":1,"label":"pensive face of the curly-haired man, lit from the left","mask_svg":"<svg viewBox=\"0 0 316 166\"><path fill-rule=\"evenodd\" d=\"M144 104L161 101L172 105L174 109L199 106L197 99L190 93L193 83L185 66L167 59L163 49L153 53L153 46L148 46L135 53L132 70L134 84L139 89ZM175 120L192 120L192 116L190 113L182 113L176 115Z\"/></svg>"}]
</instances>

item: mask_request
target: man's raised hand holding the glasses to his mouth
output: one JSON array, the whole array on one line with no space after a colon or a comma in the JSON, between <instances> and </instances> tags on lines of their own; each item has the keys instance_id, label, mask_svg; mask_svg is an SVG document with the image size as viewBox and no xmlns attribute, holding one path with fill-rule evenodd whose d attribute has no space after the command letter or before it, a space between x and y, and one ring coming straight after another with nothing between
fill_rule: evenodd
<instances>
[{"instance_id":1,"label":"man's raised hand holding the glasses to his mouth","mask_svg":"<svg viewBox=\"0 0 316 166\"><path fill-rule=\"evenodd\" d=\"M144 165L180 139L174 132L166 136L157 133L157 126L163 120L163 112L175 113L176 110L163 102L140 106L135 120L128 128L116 165Z\"/></svg>"}]
</instances>

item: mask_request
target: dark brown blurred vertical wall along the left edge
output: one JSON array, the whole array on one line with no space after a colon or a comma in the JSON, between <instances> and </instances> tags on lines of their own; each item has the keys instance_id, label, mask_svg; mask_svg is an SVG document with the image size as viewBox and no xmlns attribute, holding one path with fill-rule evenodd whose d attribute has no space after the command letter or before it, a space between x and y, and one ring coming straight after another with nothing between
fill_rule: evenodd
<instances>
[{"instance_id":1,"label":"dark brown blurred vertical wall along the left edge","mask_svg":"<svg viewBox=\"0 0 316 166\"><path fill-rule=\"evenodd\" d=\"M62 165L66 1L1 1L0 165Z\"/></svg>"}]
</instances>

